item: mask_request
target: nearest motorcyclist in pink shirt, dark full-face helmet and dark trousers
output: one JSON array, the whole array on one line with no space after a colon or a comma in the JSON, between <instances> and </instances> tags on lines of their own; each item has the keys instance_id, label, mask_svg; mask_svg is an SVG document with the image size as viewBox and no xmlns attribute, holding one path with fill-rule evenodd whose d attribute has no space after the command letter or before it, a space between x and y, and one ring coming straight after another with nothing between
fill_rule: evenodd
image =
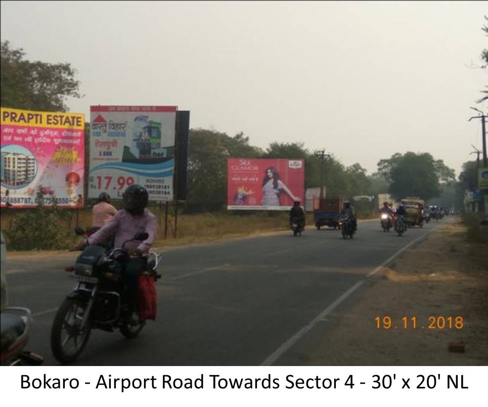
<instances>
[{"instance_id":1,"label":"nearest motorcyclist in pink shirt, dark full-face helmet and dark trousers","mask_svg":"<svg viewBox=\"0 0 488 407\"><path fill-rule=\"evenodd\" d=\"M76 246L82 250L86 245L104 242L109 236L115 235L114 248L134 238L137 233L147 233L149 237L143 242L127 242L125 249L129 257L123 265L124 280L129 294L130 323L137 325L139 317L137 309L137 290L139 275L147 266L147 255L156 237L156 216L146 206L149 195L146 188L134 184L129 186L122 195L123 209L119 210L98 232Z\"/></svg>"}]
</instances>

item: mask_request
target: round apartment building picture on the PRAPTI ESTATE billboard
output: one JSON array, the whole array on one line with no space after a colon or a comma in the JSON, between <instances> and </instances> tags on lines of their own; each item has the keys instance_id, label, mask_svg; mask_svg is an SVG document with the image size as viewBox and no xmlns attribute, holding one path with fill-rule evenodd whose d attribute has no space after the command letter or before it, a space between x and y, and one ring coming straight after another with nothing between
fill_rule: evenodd
<instances>
[{"instance_id":1,"label":"round apartment building picture on the PRAPTI ESTATE billboard","mask_svg":"<svg viewBox=\"0 0 488 407\"><path fill-rule=\"evenodd\" d=\"M34 156L23 152L1 153L2 185L10 188L21 188L32 182L36 173Z\"/></svg>"}]
</instances>

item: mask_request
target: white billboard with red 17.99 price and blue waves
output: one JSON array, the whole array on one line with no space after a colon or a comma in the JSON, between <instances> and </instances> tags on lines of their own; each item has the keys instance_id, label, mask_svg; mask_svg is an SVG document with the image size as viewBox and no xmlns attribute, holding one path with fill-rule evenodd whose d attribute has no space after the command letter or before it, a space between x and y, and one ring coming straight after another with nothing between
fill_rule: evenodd
<instances>
[{"instance_id":1,"label":"white billboard with red 17.99 price and blue waves","mask_svg":"<svg viewBox=\"0 0 488 407\"><path fill-rule=\"evenodd\" d=\"M132 184L173 199L175 106L92 106L88 198L121 199Z\"/></svg>"}]
</instances>

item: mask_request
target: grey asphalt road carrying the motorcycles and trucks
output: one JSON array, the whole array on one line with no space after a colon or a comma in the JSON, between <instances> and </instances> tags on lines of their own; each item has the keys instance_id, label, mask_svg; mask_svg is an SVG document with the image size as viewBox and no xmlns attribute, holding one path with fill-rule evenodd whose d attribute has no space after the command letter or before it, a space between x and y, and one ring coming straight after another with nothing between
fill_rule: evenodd
<instances>
[{"instance_id":1,"label":"grey asphalt road carrying the motorcycles and trucks","mask_svg":"<svg viewBox=\"0 0 488 407\"><path fill-rule=\"evenodd\" d=\"M441 221L442 222L442 221ZM439 224L441 223L439 222ZM383 233L364 221L352 240L332 229L174 248L157 283L158 316L141 335L92 331L78 365L300 365L334 329L378 266L436 227ZM75 254L9 259L11 306L34 314L27 348L57 365L50 349L56 308L74 286Z\"/></svg>"}]
</instances>

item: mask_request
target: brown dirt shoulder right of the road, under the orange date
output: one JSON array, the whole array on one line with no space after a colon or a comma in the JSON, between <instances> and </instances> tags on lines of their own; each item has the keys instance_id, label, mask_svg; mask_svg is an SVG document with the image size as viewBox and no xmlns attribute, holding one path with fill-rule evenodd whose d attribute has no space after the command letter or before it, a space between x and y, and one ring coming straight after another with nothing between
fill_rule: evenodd
<instances>
[{"instance_id":1,"label":"brown dirt shoulder right of the road, under the orange date","mask_svg":"<svg viewBox=\"0 0 488 407\"><path fill-rule=\"evenodd\" d=\"M486 245L467 243L466 227L446 221L367 280L346 315L330 315L330 331L308 363L488 365L486 261ZM449 351L461 342L463 353Z\"/></svg>"}]
</instances>

